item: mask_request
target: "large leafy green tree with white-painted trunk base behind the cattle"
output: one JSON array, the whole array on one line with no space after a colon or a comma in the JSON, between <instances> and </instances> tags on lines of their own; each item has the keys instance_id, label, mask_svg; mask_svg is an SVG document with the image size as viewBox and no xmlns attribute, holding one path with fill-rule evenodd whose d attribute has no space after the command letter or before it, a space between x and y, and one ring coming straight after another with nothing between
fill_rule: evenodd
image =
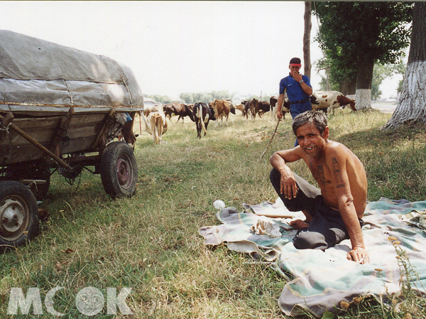
<instances>
[{"instance_id":1,"label":"large leafy green tree with white-painted trunk base behind the cattle","mask_svg":"<svg viewBox=\"0 0 426 319\"><path fill-rule=\"evenodd\" d=\"M331 67L341 73L342 82L349 75L353 79L356 70L358 109L371 108L374 63L397 63L402 58L410 40L412 6L391 1L315 3L314 13L321 22L317 40Z\"/></svg>"}]
</instances>

